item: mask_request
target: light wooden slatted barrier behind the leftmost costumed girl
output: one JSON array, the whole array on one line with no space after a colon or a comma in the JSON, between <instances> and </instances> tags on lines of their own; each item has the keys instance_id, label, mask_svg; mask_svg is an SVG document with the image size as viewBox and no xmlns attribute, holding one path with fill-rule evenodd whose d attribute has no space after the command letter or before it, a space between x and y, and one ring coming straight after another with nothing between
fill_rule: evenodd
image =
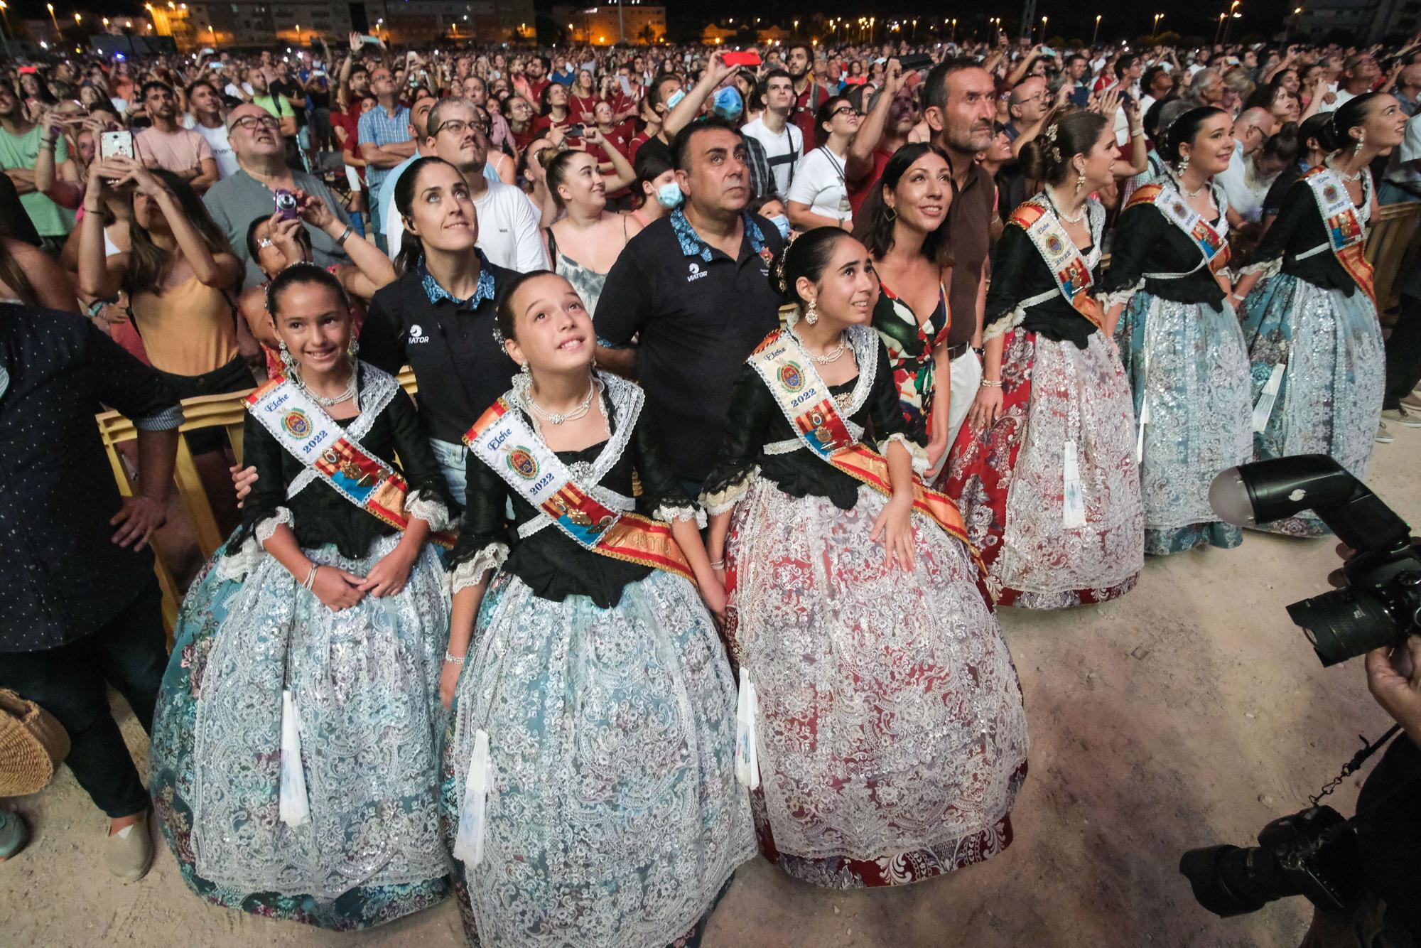
<instances>
[{"instance_id":1,"label":"light wooden slatted barrier behind the leftmost costumed girl","mask_svg":"<svg viewBox=\"0 0 1421 948\"><path fill-rule=\"evenodd\" d=\"M415 394L415 374L411 370L406 368L399 374L399 384L411 395ZM179 431L222 428L227 435L227 443L232 445L233 456L237 459L237 463L242 463L243 425L247 418L246 397L247 392L232 392L183 399L183 424ZM115 411L102 412L95 416L95 421L98 422L99 436L104 439L104 449L108 452L108 466L112 470L114 480L118 483L118 492L125 497L131 497L134 495L134 480L128 472L128 465L118 452L118 446L136 441L138 429L134 428L132 421ZM188 442L183 438L178 439L178 463L173 468L173 485L178 489L178 497L182 500L183 509L188 512L188 517L192 520L202 559L206 560L223 544L226 537L217 530L217 519L212 513L212 503L202 488L202 479L198 476L196 465L193 465L192 452L188 449ZM163 628L168 631L168 644L172 645L173 627L178 624L178 605L182 603L183 591L178 588L171 566L175 551L165 550L156 537L152 542L152 547L155 560L153 571L158 574L158 584L163 590Z\"/></svg>"}]
</instances>

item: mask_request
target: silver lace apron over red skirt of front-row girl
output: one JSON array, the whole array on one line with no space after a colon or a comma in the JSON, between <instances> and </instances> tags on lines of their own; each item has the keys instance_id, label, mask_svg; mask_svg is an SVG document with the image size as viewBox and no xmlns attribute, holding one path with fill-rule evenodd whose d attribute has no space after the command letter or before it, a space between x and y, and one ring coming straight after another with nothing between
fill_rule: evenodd
<instances>
[{"instance_id":1,"label":"silver lace apron over red skirt of front-row girl","mask_svg":"<svg viewBox=\"0 0 1421 948\"><path fill-rule=\"evenodd\" d=\"M735 641L759 696L764 807L783 853L951 849L1012 809L1022 692L959 540L912 519L914 571L853 510L756 480L732 520Z\"/></svg>"}]
</instances>

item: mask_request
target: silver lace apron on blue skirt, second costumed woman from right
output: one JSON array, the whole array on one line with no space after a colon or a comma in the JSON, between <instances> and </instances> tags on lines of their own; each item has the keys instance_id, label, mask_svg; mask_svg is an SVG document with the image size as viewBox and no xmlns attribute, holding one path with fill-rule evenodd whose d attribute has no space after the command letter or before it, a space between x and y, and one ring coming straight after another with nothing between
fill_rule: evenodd
<instances>
[{"instance_id":1,"label":"silver lace apron on blue skirt, second costumed woman from right","mask_svg":"<svg viewBox=\"0 0 1421 948\"><path fill-rule=\"evenodd\" d=\"M1216 523L1209 485L1221 470L1253 459L1249 362L1238 317L1228 303L1215 310L1141 293L1120 327L1135 321L1148 365L1140 392L1150 416L1140 463L1145 527Z\"/></svg>"}]
</instances>

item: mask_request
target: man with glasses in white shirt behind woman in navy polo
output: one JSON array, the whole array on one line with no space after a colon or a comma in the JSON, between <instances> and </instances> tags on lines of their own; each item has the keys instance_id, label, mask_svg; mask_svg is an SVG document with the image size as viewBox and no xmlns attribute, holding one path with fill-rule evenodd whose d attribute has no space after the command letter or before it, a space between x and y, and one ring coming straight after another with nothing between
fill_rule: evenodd
<instances>
[{"instance_id":1,"label":"man with glasses in white shirt behind woman in navy polo","mask_svg":"<svg viewBox=\"0 0 1421 948\"><path fill-rule=\"evenodd\" d=\"M551 269L547 244L539 230L541 216L533 202L519 188L489 181L483 173L489 131L479 122L475 105L462 98L442 99L429 111L426 125L428 135L421 151L445 159L463 175L479 225L477 246L489 262L519 273ZM387 247L394 257L405 227L394 210L385 223Z\"/></svg>"}]
</instances>

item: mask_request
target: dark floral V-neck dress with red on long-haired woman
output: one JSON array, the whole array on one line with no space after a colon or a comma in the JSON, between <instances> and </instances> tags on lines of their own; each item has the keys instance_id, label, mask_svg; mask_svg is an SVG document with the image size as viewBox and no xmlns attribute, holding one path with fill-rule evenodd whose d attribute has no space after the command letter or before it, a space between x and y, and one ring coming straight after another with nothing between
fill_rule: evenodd
<instances>
[{"instance_id":1,"label":"dark floral V-neck dress with red on long-haired woman","mask_svg":"<svg viewBox=\"0 0 1421 948\"><path fill-rule=\"evenodd\" d=\"M919 320L892 290L887 286L881 290L878 303L874 304L874 328L888 350L888 365L898 389L898 406L908 425L908 438L919 448L926 448L932 436L932 399L938 385L934 350L946 344L952 324L948 294L939 284L936 308L926 320Z\"/></svg>"}]
</instances>

